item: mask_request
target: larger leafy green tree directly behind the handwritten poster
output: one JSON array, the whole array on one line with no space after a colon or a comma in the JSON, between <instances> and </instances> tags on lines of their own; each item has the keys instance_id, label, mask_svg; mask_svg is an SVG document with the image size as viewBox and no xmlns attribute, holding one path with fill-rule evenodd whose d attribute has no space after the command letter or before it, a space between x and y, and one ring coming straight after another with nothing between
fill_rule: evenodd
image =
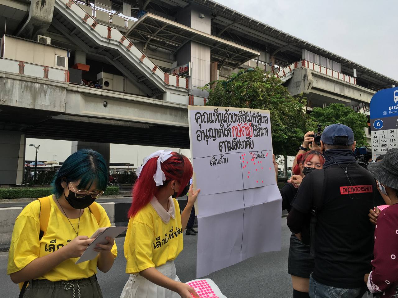
<instances>
[{"instance_id":1,"label":"larger leafy green tree directly behind the handwritten poster","mask_svg":"<svg viewBox=\"0 0 398 298\"><path fill-rule=\"evenodd\" d=\"M292 97L279 78L264 74L260 68L239 76L232 74L231 78L235 80L227 85L213 81L202 88L209 92L207 105L269 110L273 151L296 155L311 122L303 108L305 101Z\"/></svg>"}]
</instances>

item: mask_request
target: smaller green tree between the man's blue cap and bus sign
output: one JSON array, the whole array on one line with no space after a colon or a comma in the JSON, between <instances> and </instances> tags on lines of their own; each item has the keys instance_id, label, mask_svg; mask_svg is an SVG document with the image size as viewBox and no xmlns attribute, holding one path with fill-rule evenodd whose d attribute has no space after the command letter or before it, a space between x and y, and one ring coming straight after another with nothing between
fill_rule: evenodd
<instances>
[{"instance_id":1,"label":"smaller green tree between the man's blue cap and bus sign","mask_svg":"<svg viewBox=\"0 0 398 298\"><path fill-rule=\"evenodd\" d=\"M368 146L365 135L365 128L368 127L368 120L364 114L355 112L344 104L332 103L324 108L314 108L311 113L314 122L322 126L341 123L349 126L354 132L354 139L357 147Z\"/></svg>"}]
</instances>

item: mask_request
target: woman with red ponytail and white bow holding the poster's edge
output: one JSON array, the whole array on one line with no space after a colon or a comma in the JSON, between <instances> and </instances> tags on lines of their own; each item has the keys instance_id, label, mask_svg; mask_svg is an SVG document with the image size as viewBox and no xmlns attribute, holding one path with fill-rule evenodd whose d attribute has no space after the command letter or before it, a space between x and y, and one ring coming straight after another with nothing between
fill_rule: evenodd
<instances>
[{"instance_id":1,"label":"woman with red ponytail and white bow holding the poster's edge","mask_svg":"<svg viewBox=\"0 0 398 298\"><path fill-rule=\"evenodd\" d=\"M185 229L200 190L189 188L189 159L172 151L156 151L137 169L124 252L130 273L120 298L191 298L195 290L181 283L174 259L183 248ZM186 194L180 215L176 197Z\"/></svg>"}]
</instances>

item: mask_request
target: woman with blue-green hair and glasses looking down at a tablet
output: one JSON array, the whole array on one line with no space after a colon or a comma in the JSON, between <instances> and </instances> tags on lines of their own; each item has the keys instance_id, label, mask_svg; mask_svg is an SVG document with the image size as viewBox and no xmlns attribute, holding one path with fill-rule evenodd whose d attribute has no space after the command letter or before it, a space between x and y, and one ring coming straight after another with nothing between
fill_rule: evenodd
<instances>
[{"instance_id":1,"label":"woman with blue-green hair and glasses looking down at a tablet","mask_svg":"<svg viewBox=\"0 0 398 298\"><path fill-rule=\"evenodd\" d=\"M97 268L111 269L117 255L114 239L97 244L95 259L75 262L94 240L88 237L111 225L103 207L94 202L108 179L102 155L81 149L60 167L54 194L22 210L15 221L7 268L12 281L22 285L20 297L102 297Z\"/></svg>"}]
</instances>

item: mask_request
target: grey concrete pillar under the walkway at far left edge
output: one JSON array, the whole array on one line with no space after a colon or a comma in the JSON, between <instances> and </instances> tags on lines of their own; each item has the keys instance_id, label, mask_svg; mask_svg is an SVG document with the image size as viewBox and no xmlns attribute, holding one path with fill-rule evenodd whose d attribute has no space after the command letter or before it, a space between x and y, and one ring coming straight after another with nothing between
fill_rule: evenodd
<instances>
[{"instance_id":1,"label":"grey concrete pillar under the walkway at far left edge","mask_svg":"<svg viewBox=\"0 0 398 298\"><path fill-rule=\"evenodd\" d=\"M25 134L0 131L0 185L22 184L25 166Z\"/></svg>"}]
</instances>

